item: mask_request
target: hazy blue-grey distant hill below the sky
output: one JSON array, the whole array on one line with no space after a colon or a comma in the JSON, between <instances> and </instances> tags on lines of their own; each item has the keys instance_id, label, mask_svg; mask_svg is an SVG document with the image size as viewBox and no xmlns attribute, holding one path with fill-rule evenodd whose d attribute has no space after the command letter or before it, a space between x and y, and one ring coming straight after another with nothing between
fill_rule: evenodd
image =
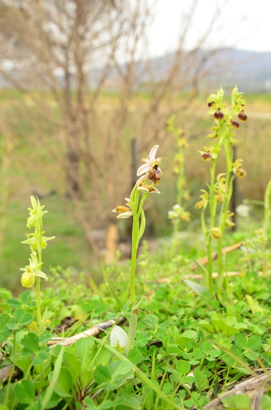
<instances>
[{"instance_id":1,"label":"hazy blue-grey distant hill below the sky","mask_svg":"<svg viewBox=\"0 0 271 410\"><path fill-rule=\"evenodd\" d=\"M196 88L200 92L209 92L210 88L222 86L225 91L232 89L236 84L243 92L270 92L271 93L271 52L253 52L238 50L234 48L225 48L217 50L210 57L209 51L197 50L192 57L189 57L188 74L185 83L188 84L186 91L191 89L192 77L196 70L209 74L204 74L199 78ZM184 53L184 59L188 56ZM199 61L202 57L208 56L204 67L200 67ZM148 60L148 67L152 71L152 80L159 84L166 76L169 66L172 64L174 53L168 53L160 57ZM146 61L137 63L137 71L141 73L138 76L136 89L138 91L147 91L149 89L149 77L146 72ZM125 64L121 68L125 68ZM89 88L94 88L98 84L101 74L100 69L91 70L87 75L87 84ZM182 77L182 72L180 76ZM184 79L184 77L183 77ZM195 85L194 85L195 86ZM107 75L106 89L118 89L118 73L114 67L111 67Z\"/></svg>"}]
</instances>

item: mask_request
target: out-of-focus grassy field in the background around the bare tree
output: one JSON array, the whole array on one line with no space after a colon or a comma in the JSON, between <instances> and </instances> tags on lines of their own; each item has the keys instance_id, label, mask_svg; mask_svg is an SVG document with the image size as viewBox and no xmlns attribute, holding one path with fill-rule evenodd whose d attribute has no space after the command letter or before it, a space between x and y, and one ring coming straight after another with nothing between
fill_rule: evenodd
<instances>
[{"instance_id":1,"label":"out-of-focus grassy field in the background around the bare tree","mask_svg":"<svg viewBox=\"0 0 271 410\"><path fill-rule=\"evenodd\" d=\"M211 90L215 91L215 90ZM132 109L128 114L126 126L127 139L130 140L137 133L137 124L144 116L144 104L148 102L148 94L137 94L131 97L131 106L143 107L143 111ZM50 95L47 94L48 100ZM199 96L194 99L190 108L180 110L188 96L179 95L176 103L176 124L179 124L185 131L189 139L189 148L186 150L186 175L188 189L191 190L191 200L187 203L187 210L191 212L192 222L183 224L183 229L191 233L191 238L199 235L199 212L194 209L194 204L198 200L199 190L205 188L205 180L209 178L209 163L200 159L198 150L209 145L206 135L213 124L212 118L207 115L206 96ZM247 113L249 119L245 124L241 124L237 131L237 157L244 159L244 168L247 176L244 180L238 180L237 200L240 203L244 198L262 200L264 190L270 179L271 163L271 95L246 95ZM101 105L114 106L118 100L118 94L103 93L100 97ZM230 96L225 97L230 102ZM100 268L98 261L93 257L89 249L83 229L66 213L65 203L58 194L47 196L54 189L54 182L58 181L61 190L61 178L55 168L54 159L48 154L47 149L42 145L42 139L31 129L27 119L17 111L17 107L22 101L30 101L29 96L25 96L16 90L0 90L0 107L5 108L5 113L9 113L6 118L8 130L13 130L16 136L16 143L11 153L11 166L8 174L1 175L1 189L3 180L8 179L8 207L5 218L5 230L3 233L3 250L0 260L0 286L5 286L17 292L20 290L19 268L25 267L29 258L29 247L20 244L25 239L25 233L30 233L26 227L26 220L29 215L27 208L30 206L30 195L43 193L44 198L41 203L45 204L48 214L44 217L44 230L47 236L55 235L56 239L49 242L48 248L43 252L44 271L49 272L49 267L61 265L63 268L74 267L92 276L98 281L100 278ZM10 106L9 106L10 104ZM165 101L166 104L166 101ZM103 108L101 108L102 110ZM30 107L29 111L35 110ZM251 114L251 116L250 116ZM259 115L261 114L261 115ZM57 108L55 108L57 116ZM129 122L130 121L130 122ZM129 125L130 124L130 125ZM54 140L51 136L50 124L38 124L37 128L43 134L48 132L48 139L52 149ZM47 131L48 128L48 131ZM4 134L1 135L0 155L3 156ZM140 139L140 136L139 136ZM156 141L153 141L154 143ZM147 227L145 238L163 238L172 232L172 226L167 218L167 212L175 203L175 176L172 173L172 158L175 151L175 141L173 137L162 130L162 137L158 141L160 145L159 154L163 156L163 179L160 184L161 196L151 198L151 206L146 210ZM143 153L144 156L146 153ZM140 166L140 164L139 164ZM218 172L223 172L223 159L219 161ZM4 179L3 179L4 178ZM207 179L206 179L207 178ZM55 179L55 181L54 181ZM127 186L129 181L126 182ZM154 195L155 196L155 195ZM252 234L260 221L262 209L259 207L254 215L254 222L250 227L250 233L242 231L234 237L226 237L224 244L234 243L240 238ZM91 210L89 210L91 212ZM108 210L110 212L110 210ZM120 234L126 234L126 221L119 221ZM193 240L192 240L193 242ZM161 242L162 243L162 242ZM191 248L183 241L183 248L180 253L188 255L191 253L195 257L205 255L205 246L202 241ZM161 245L162 246L162 245ZM157 251L157 249L156 249ZM160 257L168 256L167 250L159 252ZM162 255L162 256L161 256ZM232 269L238 261L238 256L231 256Z\"/></svg>"}]
</instances>

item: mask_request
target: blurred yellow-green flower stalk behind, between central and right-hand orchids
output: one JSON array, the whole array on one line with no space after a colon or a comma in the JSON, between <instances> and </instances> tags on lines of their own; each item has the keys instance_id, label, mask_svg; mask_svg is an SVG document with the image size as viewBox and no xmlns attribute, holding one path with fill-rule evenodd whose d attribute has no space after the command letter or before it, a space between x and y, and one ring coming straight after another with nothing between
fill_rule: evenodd
<instances>
[{"instance_id":1,"label":"blurred yellow-green flower stalk behind, between central and right-hand orchids","mask_svg":"<svg viewBox=\"0 0 271 410\"><path fill-rule=\"evenodd\" d=\"M174 230L173 230L173 241L172 241L172 254L177 255L178 250L178 227L179 222L182 221L189 221L190 220L190 212L185 211L183 207L183 201L190 199L189 190L186 190L186 180L185 180L185 155L184 155L184 148L188 147L187 139L184 136L184 131L180 127L175 127L174 125L175 115L171 115L171 117L167 121L166 130L171 131L175 137L178 152L174 157L174 166L173 166L173 174L177 175L177 195L176 195L176 204L173 205L172 209L168 211L168 218L171 220Z\"/></svg>"}]
</instances>

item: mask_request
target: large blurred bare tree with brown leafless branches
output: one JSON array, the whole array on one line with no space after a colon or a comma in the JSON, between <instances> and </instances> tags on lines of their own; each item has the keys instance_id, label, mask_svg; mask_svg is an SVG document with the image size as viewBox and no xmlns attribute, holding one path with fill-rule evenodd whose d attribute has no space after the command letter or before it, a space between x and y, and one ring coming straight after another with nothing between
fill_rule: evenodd
<instances>
[{"instance_id":1,"label":"large blurred bare tree with brown leafless branches","mask_svg":"<svg viewBox=\"0 0 271 410\"><path fill-rule=\"evenodd\" d=\"M152 18L149 1L0 0L0 74L31 97L33 107L23 115L35 144L38 138L54 159L46 172L95 252L91 229L107 227L109 210L129 193L130 139L139 135L144 151L159 140L176 95L208 72L213 52L202 46L218 10L185 52L196 6L194 0L177 50L159 76L153 61L139 58ZM134 99L144 81L148 100Z\"/></svg>"}]
</instances>

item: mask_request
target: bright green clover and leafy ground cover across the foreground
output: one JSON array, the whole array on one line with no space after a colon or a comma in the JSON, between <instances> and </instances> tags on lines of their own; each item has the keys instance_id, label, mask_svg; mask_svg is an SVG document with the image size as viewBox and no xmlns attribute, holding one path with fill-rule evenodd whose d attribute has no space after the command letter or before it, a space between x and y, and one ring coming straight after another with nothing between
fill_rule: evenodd
<instances>
[{"instance_id":1,"label":"bright green clover and leafy ground cover across the foreground","mask_svg":"<svg viewBox=\"0 0 271 410\"><path fill-rule=\"evenodd\" d=\"M15 364L21 376L0 390L1 410L202 409L211 398L255 374L263 364L270 366L270 280L246 268L241 276L225 282L218 300L209 291L193 292L181 280L178 263L161 264L145 245L136 286L142 303L128 360L120 345L115 347L115 356L107 342L101 348L99 340L91 337L64 349L47 346L57 335L71 337L104 320L129 315L127 305L118 313L120 306L107 281L90 289L83 276L53 270L48 275L52 285L43 290L41 305L42 311L47 307L51 325L42 334L31 322L35 293L27 290L13 299L3 289L0 341L9 339L1 348L2 363L4 368ZM123 304L129 295L127 269L127 263L121 261L106 269ZM159 284L157 279L165 275L170 282ZM122 329L128 331L127 322ZM109 340L108 334L102 334L100 340L104 336ZM270 403L267 392L261 408L269 408ZM243 395L230 396L223 405L251 408L249 397Z\"/></svg>"}]
</instances>

